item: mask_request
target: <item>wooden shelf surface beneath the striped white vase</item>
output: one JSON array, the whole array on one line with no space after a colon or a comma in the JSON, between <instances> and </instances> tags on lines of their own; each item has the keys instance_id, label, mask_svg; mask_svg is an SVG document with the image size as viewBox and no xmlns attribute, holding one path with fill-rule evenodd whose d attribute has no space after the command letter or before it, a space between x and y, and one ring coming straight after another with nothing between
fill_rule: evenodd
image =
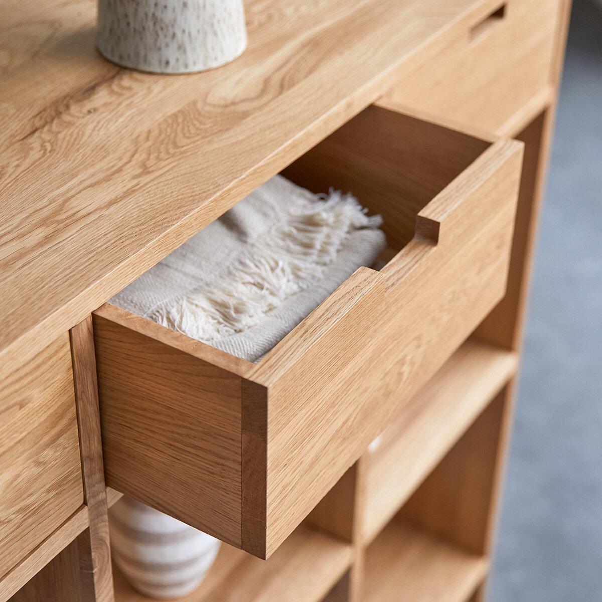
<instances>
[{"instance_id":1,"label":"wooden shelf surface beneath the striped white vase","mask_svg":"<svg viewBox=\"0 0 602 602\"><path fill-rule=\"evenodd\" d=\"M227 544L199 589L181 602L318 602L352 562L352 547L300 526L270 557L259 560ZM115 602L147 602L114 566Z\"/></svg>"}]
</instances>

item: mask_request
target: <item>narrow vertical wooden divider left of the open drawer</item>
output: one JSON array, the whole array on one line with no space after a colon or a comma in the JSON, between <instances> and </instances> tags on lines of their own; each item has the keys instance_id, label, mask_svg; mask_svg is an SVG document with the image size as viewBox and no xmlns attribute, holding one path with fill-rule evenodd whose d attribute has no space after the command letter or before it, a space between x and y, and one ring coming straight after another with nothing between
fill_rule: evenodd
<instances>
[{"instance_id":1,"label":"narrow vertical wooden divider left of the open drawer","mask_svg":"<svg viewBox=\"0 0 602 602\"><path fill-rule=\"evenodd\" d=\"M113 602L113 573L107 515L107 489L102 463L101 422L96 383L92 316L70 330L73 382L79 427L84 501L90 526L76 541L84 602Z\"/></svg>"}]
</instances>

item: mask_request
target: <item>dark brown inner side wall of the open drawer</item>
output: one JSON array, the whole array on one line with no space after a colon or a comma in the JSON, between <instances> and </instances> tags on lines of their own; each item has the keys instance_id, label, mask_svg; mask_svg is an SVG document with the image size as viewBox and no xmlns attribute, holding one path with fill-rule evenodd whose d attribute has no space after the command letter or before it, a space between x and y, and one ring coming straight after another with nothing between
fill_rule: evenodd
<instances>
[{"instance_id":1,"label":"dark brown inner side wall of the open drawer","mask_svg":"<svg viewBox=\"0 0 602 602\"><path fill-rule=\"evenodd\" d=\"M416 219L491 145L383 108L370 107L300 157L282 175L324 193L350 191L383 217L389 248L414 238Z\"/></svg>"}]
</instances>

